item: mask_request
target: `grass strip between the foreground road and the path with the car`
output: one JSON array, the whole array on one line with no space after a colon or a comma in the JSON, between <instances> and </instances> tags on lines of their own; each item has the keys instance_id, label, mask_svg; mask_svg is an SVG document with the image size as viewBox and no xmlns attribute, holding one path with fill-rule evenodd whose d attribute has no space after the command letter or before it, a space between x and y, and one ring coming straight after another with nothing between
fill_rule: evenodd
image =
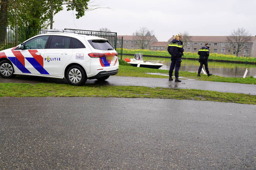
<instances>
[{"instance_id":1,"label":"grass strip between the foreground road and the path with the car","mask_svg":"<svg viewBox=\"0 0 256 170\"><path fill-rule=\"evenodd\" d=\"M129 97L230 102L256 105L253 95L138 86L0 83L0 97Z\"/></svg>"}]
</instances>

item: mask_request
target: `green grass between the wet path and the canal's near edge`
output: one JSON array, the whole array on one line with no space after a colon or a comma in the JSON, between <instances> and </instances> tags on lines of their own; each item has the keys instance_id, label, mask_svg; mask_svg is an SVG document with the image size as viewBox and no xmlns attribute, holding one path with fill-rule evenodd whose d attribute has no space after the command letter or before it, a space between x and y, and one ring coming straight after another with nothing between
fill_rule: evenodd
<instances>
[{"instance_id":1,"label":"green grass between the wet path and the canal's near edge","mask_svg":"<svg viewBox=\"0 0 256 170\"><path fill-rule=\"evenodd\" d=\"M161 73L161 74L169 74L169 70L160 70L160 69L152 69L152 68L143 68L143 67L133 67L127 65L121 65L119 67L118 74L116 76L126 76L126 77L151 77L151 78L166 78L168 76L163 75L152 75L147 73ZM189 79L203 80L203 81L219 81L219 82L231 82L231 83L244 83L244 84L256 84L256 78L252 76L246 78L237 78L237 77L221 77L221 76L207 76L202 75L201 77L197 77L197 73L191 72L182 72L179 71L179 76L186 77Z\"/></svg>"}]
</instances>

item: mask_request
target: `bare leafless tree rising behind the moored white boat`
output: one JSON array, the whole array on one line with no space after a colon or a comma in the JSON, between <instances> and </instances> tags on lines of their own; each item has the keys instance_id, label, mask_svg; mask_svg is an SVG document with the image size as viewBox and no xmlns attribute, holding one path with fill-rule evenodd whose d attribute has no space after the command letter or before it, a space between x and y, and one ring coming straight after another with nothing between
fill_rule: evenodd
<instances>
[{"instance_id":1,"label":"bare leafless tree rising behind the moored white boat","mask_svg":"<svg viewBox=\"0 0 256 170\"><path fill-rule=\"evenodd\" d=\"M147 27L143 26L140 27L139 30L136 30L135 33L133 33L133 39L137 40L138 42L138 46L141 49L145 49L146 46L148 46L153 38L154 31L153 30L149 30Z\"/></svg>"}]
</instances>

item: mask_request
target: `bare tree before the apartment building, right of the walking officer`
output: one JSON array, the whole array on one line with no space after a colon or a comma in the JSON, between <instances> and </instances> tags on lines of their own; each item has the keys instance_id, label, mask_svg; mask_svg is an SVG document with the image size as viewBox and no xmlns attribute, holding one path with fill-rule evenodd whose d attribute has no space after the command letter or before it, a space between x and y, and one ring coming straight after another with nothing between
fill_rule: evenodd
<instances>
[{"instance_id":1,"label":"bare tree before the apartment building, right of the walking officer","mask_svg":"<svg viewBox=\"0 0 256 170\"><path fill-rule=\"evenodd\" d=\"M251 34L246 31L244 28L238 28L237 30L233 30L229 36L227 36L227 41L229 41L232 45L232 48L236 55L238 56L238 52L244 49L244 44L249 42L251 39ZM237 48L234 48L236 46Z\"/></svg>"}]
</instances>

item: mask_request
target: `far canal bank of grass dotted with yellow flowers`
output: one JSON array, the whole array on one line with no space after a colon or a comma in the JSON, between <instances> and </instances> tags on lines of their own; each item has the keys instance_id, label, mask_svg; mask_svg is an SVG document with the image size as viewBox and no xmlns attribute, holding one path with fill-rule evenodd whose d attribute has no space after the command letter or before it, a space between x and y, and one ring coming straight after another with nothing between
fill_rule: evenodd
<instances>
[{"instance_id":1,"label":"far canal bank of grass dotted with yellow flowers","mask_svg":"<svg viewBox=\"0 0 256 170\"><path fill-rule=\"evenodd\" d=\"M123 49L124 54L135 54L135 53L143 53L143 55L149 56L158 56L158 57L170 57L170 54L167 51L150 51L150 50L130 50ZM198 59L197 53L184 53L184 58L187 59ZM256 58L253 57L237 57L234 55L223 55L223 54L215 54L210 53L209 56L210 61L228 61L228 62L239 62L239 63L250 63L256 64Z\"/></svg>"}]
</instances>

